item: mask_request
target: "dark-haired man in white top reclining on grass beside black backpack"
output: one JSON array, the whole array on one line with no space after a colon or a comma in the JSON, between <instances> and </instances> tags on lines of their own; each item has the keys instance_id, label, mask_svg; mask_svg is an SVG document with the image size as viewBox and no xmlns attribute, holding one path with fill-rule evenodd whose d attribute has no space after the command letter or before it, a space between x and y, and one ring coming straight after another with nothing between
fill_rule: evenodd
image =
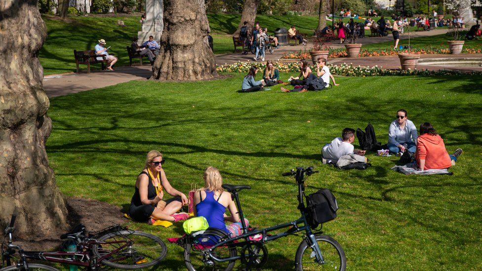
<instances>
[{"instance_id":1,"label":"dark-haired man in white top reclining on grass beside black backpack","mask_svg":"<svg viewBox=\"0 0 482 271\"><path fill-rule=\"evenodd\" d=\"M321 154L325 159L338 160L343 155L356 154L365 155L365 151L354 150L352 143L355 141L355 130L345 128L341 133L342 137L337 137L330 144L324 145Z\"/></svg>"}]
</instances>

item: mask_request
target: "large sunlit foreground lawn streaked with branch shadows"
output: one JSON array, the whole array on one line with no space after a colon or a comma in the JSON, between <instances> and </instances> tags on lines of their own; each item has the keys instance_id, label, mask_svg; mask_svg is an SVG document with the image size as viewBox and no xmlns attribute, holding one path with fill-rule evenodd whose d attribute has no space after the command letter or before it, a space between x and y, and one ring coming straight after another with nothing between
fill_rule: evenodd
<instances>
[{"instance_id":1,"label":"large sunlit foreground lawn streaked with branch shadows","mask_svg":"<svg viewBox=\"0 0 482 271\"><path fill-rule=\"evenodd\" d=\"M225 183L251 185L241 192L243 210L263 228L298 218L295 182L281 173L314 165L320 174L308 179L307 193L329 188L337 197L338 218L324 232L343 246L348 269L482 269L480 77L338 77L341 86L304 94L280 86L238 93L241 78L131 81L52 98L46 149L57 185L125 210L145 155L159 150L168 180L184 193L202 186L209 165ZM386 143L400 108L417 126L431 122L448 152L464 150L453 176L404 176L390 169L397 157L373 153L364 171L321 165L321 147L345 127L371 122ZM180 223L126 225L164 240L182 234ZM301 239L269 243L265 269L293 269ZM158 269L185 270L181 248L167 247Z\"/></svg>"}]
</instances>

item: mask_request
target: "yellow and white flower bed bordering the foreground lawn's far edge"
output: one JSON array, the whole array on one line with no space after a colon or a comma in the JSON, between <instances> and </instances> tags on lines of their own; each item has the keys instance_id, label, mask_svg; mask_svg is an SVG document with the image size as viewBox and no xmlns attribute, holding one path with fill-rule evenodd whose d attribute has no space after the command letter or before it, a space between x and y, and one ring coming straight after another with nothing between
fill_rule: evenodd
<instances>
[{"instance_id":1,"label":"yellow and white flower bed bordering the foreground lawn's far edge","mask_svg":"<svg viewBox=\"0 0 482 271\"><path fill-rule=\"evenodd\" d=\"M253 63L253 62L237 62L234 64L225 64L218 66L216 70L219 73L247 73L251 66L257 66L259 69L264 69L264 64ZM299 72L298 63L275 63L275 68L277 68L281 73L297 73ZM429 71L429 70L386 70L378 66L375 67L361 67L353 66L352 64L341 64L341 65L328 65L330 72L334 75L339 76L356 76L356 77L371 77L371 76L405 76L405 75L418 75L418 76L443 76L443 75L482 75L482 72L461 72L452 70L439 70L439 71ZM312 66L311 69L315 69Z\"/></svg>"}]
</instances>

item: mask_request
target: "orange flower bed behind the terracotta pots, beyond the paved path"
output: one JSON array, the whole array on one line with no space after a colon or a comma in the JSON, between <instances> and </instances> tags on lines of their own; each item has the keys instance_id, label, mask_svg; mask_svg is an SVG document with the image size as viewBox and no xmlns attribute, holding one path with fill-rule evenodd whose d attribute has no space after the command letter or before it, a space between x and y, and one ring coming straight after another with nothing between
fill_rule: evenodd
<instances>
[{"instance_id":1,"label":"orange flower bed behind the terracotta pots, beyond the paved path","mask_svg":"<svg viewBox=\"0 0 482 271\"><path fill-rule=\"evenodd\" d=\"M482 49L473 49L467 48L464 49L463 52L467 54L480 54L482 53ZM408 50L362 50L360 52L361 57L365 56L384 56L384 55L398 55L400 53L411 53L411 54L450 54L449 49L442 49L438 47L427 47L424 49L413 49L408 52ZM330 54L328 58L339 58L339 57L348 57L345 48L337 48L337 49L330 49ZM310 58L309 51L298 51L295 53L284 53L281 56L282 59L308 59Z\"/></svg>"}]
</instances>

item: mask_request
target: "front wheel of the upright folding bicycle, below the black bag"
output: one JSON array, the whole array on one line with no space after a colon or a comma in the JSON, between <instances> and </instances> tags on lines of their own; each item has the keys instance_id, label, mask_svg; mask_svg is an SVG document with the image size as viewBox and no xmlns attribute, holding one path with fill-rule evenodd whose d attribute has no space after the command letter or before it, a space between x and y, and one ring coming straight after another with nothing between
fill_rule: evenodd
<instances>
[{"instance_id":1,"label":"front wheel of the upright folding bicycle, below the black bag","mask_svg":"<svg viewBox=\"0 0 482 271\"><path fill-rule=\"evenodd\" d=\"M323 263L315 262L315 252L308 246L306 238L296 251L295 263L297 271L309 270L340 270L346 269L345 252L341 245L327 235L316 235L318 246L323 256ZM308 238L308 237L307 237Z\"/></svg>"}]
</instances>

